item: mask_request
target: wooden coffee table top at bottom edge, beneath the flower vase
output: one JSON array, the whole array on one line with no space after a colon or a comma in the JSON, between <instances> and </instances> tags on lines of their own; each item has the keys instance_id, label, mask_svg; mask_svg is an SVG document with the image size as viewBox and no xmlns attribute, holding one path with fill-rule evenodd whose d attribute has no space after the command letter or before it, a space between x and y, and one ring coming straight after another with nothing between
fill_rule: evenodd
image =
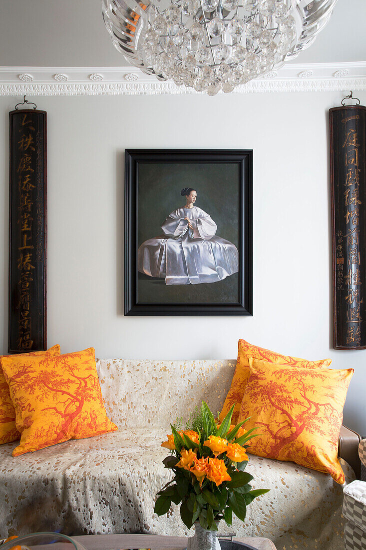
<instances>
[{"instance_id":1,"label":"wooden coffee table top at bottom edge, beneath the flower vase","mask_svg":"<svg viewBox=\"0 0 366 550\"><path fill-rule=\"evenodd\" d=\"M121 550L122 548L151 548L151 550L184 550L187 548L186 537L168 537L160 535L81 535L73 537L87 550ZM276 550L269 538L234 537L256 550Z\"/></svg>"}]
</instances>

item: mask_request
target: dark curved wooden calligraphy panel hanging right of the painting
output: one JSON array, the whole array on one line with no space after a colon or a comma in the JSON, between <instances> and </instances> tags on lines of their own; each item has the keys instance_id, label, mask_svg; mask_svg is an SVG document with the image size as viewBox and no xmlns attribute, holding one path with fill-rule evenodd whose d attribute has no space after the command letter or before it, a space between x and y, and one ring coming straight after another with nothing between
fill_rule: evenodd
<instances>
[{"instance_id":1,"label":"dark curved wooden calligraphy panel hanging right of the painting","mask_svg":"<svg viewBox=\"0 0 366 550\"><path fill-rule=\"evenodd\" d=\"M329 111L334 348L366 349L366 107Z\"/></svg>"}]
</instances>

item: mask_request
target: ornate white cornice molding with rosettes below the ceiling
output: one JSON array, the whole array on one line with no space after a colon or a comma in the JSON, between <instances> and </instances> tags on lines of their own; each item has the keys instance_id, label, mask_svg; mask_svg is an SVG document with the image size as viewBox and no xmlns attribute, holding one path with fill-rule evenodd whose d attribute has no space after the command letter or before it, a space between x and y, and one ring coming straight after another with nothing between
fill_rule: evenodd
<instances>
[{"instance_id":1,"label":"ornate white cornice molding with rosettes below the ceiling","mask_svg":"<svg viewBox=\"0 0 366 550\"><path fill-rule=\"evenodd\" d=\"M55 79L57 77L57 82ZM23 83L19 83L19 80ZM92 82L91 82L92 80ZM265 78L239 86L253 92L366 91L366 61L288 63ZM132 67L0 67L0 96L197 94L171 81L159 82Z\"/></svg>"}]
</instances>

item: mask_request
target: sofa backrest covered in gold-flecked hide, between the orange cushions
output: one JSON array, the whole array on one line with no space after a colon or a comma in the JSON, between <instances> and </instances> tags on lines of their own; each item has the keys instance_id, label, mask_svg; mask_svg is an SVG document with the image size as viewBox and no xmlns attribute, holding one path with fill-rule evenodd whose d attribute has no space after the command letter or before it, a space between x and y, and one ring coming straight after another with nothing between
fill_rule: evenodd
<instances>
[{"instance_id":1,"label":"sofa backrest covered in gold-flecked hide, between the orange cushions","mask_svg":"<svg viewBox=\"0 0 366 550\"><path fill-rule=\"evenodd\" d=\"M187 420L204 400L214 414L229 391L236 360L97 359L110 419L120 428L164 428ZM170 432L169 432L170 433Z\"/></svg>"}]
</instances>

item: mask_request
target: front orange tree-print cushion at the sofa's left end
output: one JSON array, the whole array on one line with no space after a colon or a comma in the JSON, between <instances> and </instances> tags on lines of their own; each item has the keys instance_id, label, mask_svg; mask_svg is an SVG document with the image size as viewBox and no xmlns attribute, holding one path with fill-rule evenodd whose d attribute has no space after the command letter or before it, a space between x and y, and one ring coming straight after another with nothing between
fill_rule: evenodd
<instances>
[{"instance_id":1,"label":"front orange tree-print cushion at the sofa's left end","mask_svg":"<svg viewBox=\"0 0 366 550\"><path fill-rule=\"evenodd\" d=\"M117 430L104 409L93 348L58 357L3 357L20 444L13 456Z\"/></svg>"}]
</instances>

